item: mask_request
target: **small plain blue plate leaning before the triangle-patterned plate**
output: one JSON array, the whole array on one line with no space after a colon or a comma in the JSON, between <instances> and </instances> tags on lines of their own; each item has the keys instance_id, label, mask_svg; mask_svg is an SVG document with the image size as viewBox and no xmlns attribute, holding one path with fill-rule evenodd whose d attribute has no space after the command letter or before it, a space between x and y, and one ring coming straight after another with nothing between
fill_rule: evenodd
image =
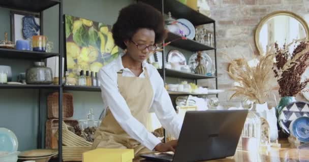
<instances>
[{"instance_id":1,"label":"small plain blue plate leaning before the triangle-patterned plate","mask_svg":"<svg viewBox=\"0 0 309 162\"><path fill-rule=\"evenodd\" d=\"M290 128L292 128L291 134L300 142L309 143L309 117L302 116L295 119Z\"/></svg>"}]
</instances>

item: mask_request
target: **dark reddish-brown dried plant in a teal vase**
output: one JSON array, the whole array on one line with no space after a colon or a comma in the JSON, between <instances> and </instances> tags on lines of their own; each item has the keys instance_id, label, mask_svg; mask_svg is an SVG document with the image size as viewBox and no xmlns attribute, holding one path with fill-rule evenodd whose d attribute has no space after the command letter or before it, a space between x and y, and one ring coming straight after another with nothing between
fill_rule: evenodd
<instances>
[{"instance_id":1,"label":"dark reddish-brown dried plant in a teal vase","mask_svg":"<svg viewBox=\"0 0 309 162\"><path fill-rule=\"evenodd\" d=\"M293 52L289 52L289 48L294 44L298 44ZM301 82L301 75L309 66L309 42L293 41L282 48L278 44L274 44L275 64L273 72L279 85L280 102L277 105L277 114L288 104L295 102L296 95L303 90L309 78Z\"/></svg>"}]
</instances>

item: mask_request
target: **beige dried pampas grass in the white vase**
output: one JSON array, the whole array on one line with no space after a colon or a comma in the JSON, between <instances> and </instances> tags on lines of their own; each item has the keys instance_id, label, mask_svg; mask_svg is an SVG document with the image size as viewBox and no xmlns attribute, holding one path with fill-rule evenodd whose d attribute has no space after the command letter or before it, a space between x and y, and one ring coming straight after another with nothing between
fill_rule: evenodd
<instances>
[{"instance_id":1,"label":"beige dried pampas grass in the white vase","mask_svg":"<svg viewBox=\"0 0 309 162\"><path fill-rule=\"evenodd\" d=\"M230 89L235 92L230 99L243 95L249 100L263 104L273 87L271 80L274 78L272 72L274 55L269 51L260 56L257 66L250 66L249 61L244 57L243 59L245 61L243 61L242 65L237 64L234 60L230 62L233 73L228 71L228 74L235 82L239 83L238 86L233 86ZM231 59L229 58L229 60Z\"/></svg>"}]
</instances>

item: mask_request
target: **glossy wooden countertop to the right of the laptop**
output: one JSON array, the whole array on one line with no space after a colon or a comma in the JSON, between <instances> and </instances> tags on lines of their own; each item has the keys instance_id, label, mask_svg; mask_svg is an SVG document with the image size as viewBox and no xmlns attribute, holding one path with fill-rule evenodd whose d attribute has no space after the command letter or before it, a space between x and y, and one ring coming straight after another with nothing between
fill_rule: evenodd
<instances>
[{"instance_id":1,"label":"glossy wooden countertop to the right of the laptop","mask_svg":"<svg viewBox=\"0 0 309 162\"><path fill-rule=\"evenodd\" d=\"M279 141L281 148L270 148L259 153L237 150L234 156L208 160L209 162L218 161L239 161L239 162L279 162L279 161L309 161L309 144L302 144L299 147L292 147L287 140ZM207 161L207 162L208 162ZM152 162L142 160L141 162Z\"/></svg>"}]
</instances>

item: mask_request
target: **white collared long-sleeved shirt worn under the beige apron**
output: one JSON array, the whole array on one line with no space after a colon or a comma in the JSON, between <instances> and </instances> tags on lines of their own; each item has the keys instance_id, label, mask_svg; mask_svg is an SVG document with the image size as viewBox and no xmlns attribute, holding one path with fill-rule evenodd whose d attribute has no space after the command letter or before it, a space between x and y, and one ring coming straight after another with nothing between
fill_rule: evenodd
<instances>
[{"instance_id":1,"label":"white collared long-sleeved shirt worn under the beige apron","mask_svg":"<svg viewBox=\"0 0 309 162\"><path fill-rule=\"evenodd\" d=\"M161 125L175 138L179 137L182 120L177 116L170 96L164 88L164 82L158 70L144 61L142 67L146 67L153 90L150 112L156 113ZM117 86L117 72L123 70L122 76L135 77L135 74L122 65L121 57L102 67L99 71L100 87L104 108L109 107L119 125L133 139L140 142L149 150L161 141L135 118L130 112L126 100L121 96ZM139 77L145 77L144 70Z\"/></svg>"}]
</instances>

